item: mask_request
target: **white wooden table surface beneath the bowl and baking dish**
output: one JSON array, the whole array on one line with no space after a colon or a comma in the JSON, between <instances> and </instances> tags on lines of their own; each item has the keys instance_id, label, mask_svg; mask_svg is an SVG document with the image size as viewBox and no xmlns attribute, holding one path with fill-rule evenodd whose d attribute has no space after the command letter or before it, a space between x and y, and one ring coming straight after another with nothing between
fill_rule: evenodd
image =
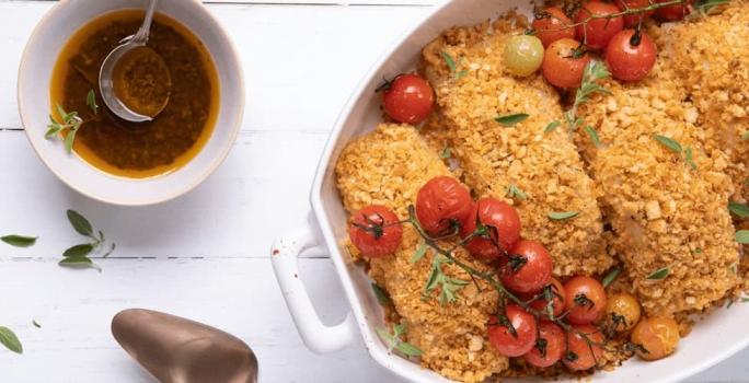
<instances>
[{"instance_id":1,"label":"white wooden table surface beneath the bowl and baking dish","mask_svg":"<svg viewBox=\"0 0 749 383\"><path fill-rule=\"evenodd\" d=\"M14 329L25 349L22 356L0 349L0 382L153 382L110 333L112 316L127 307L239 336L255 350L263 382L397 381L360 345L329 356L307 350L268 249L306 220L319 153L349 92L434 1L261 2L208 4L240 49L247 85L242 132L226 163L177 200L119 208L68 189L32 152L16 112L16 70L32 28L54 2L0 0L0 235L39 236L27 249L0 244L0 325ZM96 260L103 272L57 266L80 241L68 208L117 243L111 258ZM312 254L301 268L319 312L339 321L348 304L330 259ZM692 381L749 381L746 358L749 351Z\"/></svg>"}]
</instances>

